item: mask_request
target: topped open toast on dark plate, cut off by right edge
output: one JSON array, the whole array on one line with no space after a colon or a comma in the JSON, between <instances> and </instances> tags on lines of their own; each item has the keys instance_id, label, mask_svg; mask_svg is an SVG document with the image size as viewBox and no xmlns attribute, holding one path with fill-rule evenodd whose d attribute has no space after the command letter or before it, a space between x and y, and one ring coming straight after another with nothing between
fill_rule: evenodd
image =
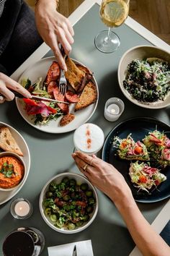
<instances>
[{"instance_id":1,"label":"topped open toast on dark plate, cut off by right edge","mask_svg":"<svg viewBox=\"0 0 170 256\"><path fill-rule=\"evenodd\" d=\"M157 130L149 132L143 139L151 158L156 160L164 168L170 166L170 139Z\"/></svg>"}]
</instances>

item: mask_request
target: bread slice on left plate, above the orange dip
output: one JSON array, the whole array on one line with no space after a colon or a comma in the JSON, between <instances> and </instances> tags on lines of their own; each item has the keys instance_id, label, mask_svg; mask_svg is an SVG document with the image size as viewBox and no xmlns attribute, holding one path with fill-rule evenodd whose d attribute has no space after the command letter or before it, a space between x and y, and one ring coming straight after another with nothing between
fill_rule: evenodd
<instances>
[{"instance_id":1,"label":"bread slice on left plate, above the orange dip","mask_svg":"<svg viewBox=\"0 0 170 256\"><path fill-rule=\"evenodd\" d=\"M0 127L0 148L23 156L22 150L20 150L8 127Z\"/></svg>"}]
</instances>

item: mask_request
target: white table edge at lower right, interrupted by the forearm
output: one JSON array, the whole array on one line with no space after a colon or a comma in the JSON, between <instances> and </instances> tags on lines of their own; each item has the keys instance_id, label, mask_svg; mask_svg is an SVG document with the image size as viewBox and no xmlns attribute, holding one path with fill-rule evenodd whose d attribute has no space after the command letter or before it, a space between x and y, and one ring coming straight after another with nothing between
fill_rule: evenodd
<instances>
[{"instance_id":1,"label":"white table edge at lower right, interrupted by the forearm","mask_svg":"<svg viewBox=\"0 0 170 256\"><path fill-rule=\"evenodd\" d=\"M170 213L170 200L166 202L164 208L162 208L161 212L158 213L155 220L151 224L153 229L160 234L161 231L164 229L166 224L169 222L169 213ZM139 251L138 247L135 247L132 252L130 252L129 256L142 256L141 252Z\"/></svg>"}]
</instances>

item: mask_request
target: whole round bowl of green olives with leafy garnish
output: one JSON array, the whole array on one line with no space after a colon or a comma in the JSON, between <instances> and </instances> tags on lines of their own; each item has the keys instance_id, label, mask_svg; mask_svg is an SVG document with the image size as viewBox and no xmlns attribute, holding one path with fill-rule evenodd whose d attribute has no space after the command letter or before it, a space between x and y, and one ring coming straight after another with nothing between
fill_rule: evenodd
<instances>
[{"instance_id":1,"label":"whole round bowl of green olives with leafy garnish","mask_svg":"<svg viewBox=\"0 0 170 256\"><path fill-rule=\"evenodd\" d=\"M86 177L66 172L45 184L39 204L42 218L50 228L74 234L86 229L97 216L97 191Z\"/></svg>"}]
</instances>

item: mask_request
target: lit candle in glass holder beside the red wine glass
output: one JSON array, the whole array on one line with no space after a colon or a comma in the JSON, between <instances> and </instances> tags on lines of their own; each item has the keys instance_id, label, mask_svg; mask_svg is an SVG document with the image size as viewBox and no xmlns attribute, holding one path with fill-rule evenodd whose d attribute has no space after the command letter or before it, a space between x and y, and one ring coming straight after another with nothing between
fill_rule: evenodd
<instances>
[{"instance_id":1,"label":"lit candle in glass holder beside the red wine glass","mask_svg":"<svg viewBox=\"0 0 170 256\"><path fill-rule=\"evenodd\" d=\"M26 219L32 216L33 207L28 200L24 198L17 198L12 201L10 212L14 218Z\"/></svg>"}]
</instances>

